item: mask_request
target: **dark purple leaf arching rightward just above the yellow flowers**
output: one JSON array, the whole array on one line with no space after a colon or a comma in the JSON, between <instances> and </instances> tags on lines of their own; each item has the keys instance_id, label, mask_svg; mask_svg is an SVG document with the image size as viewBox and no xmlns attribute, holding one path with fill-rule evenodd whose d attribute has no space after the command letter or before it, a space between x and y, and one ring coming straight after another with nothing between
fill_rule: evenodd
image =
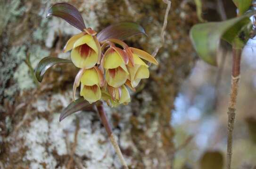
<instances>
[{"instance_id":1,"label":"dark purple leaf arching rightward just above the yellow flowers","mask_svg":"<svg viewBox=\"0 0 256 169\"><path fill-rule=\"evenodd\" d=\"M142 26L137 23L116 23L100 31L97 34L97 38L100 42L109 38L124 40L139 34L147 35Z\"/></svg>"}]
</instances>

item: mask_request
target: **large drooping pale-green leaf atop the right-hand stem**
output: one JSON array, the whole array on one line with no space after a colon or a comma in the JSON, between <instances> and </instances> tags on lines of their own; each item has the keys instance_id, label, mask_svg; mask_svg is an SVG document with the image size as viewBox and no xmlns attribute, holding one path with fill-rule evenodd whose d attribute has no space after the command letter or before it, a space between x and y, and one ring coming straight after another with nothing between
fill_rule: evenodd
<instances>
[{"instance_id":1,"label":"large drooping pale-green leaf atop the right-hand stem","mask_svg":"<svg viewBox=\"0 0 256 169\"><path fill-rule=\"evenodd\" d=\"M253 13L223 22L200 23L193 26L190 30L190 39L199 57L216 66L216 52L220 39L223 38L233 45L242 28L250 23L249 16L251 15Z\"/></svg>"}]
</instances>

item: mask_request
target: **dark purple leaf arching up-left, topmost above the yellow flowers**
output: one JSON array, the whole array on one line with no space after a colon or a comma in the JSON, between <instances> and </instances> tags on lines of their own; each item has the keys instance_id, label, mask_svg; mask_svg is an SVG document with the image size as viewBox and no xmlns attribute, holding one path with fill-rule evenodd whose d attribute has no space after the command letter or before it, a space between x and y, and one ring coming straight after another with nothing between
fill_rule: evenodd
<instances>
[{"instance_id":1,"label":"dark purple leaf arching up-left, topmost above the yellow flowers","mask_svg":"<svg viewBox=\"0 0 256 169\"><path fill-rule=\"evenodd\" d=\"M52 5L47 13L47 16L54 15L64 19L66 22L70 23L80 31L85 29L85 24L83 17L79 11L72 5L68 3L56 3Z\"/></svg>"}]
</instances>

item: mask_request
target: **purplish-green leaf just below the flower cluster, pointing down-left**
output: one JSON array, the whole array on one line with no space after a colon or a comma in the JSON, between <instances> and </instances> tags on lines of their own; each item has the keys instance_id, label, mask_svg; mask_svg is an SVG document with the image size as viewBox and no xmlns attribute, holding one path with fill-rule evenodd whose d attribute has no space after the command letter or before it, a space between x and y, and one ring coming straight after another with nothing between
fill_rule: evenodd
<instances>
[{"instance_id":1,"label":"purplish-green leaf just below the flower cluster, pointing down-left","mask_svg":"<svg viewBox=\"0 0 256 169\"><path fill-rule=\"evenodd\" d=\"M59 121L61 122L67 116L74 114L80 110L91 110L93 104L90 104L88 101L84 100L83 97L71 102L59 116Z\"/></svg>"}]
</instances>

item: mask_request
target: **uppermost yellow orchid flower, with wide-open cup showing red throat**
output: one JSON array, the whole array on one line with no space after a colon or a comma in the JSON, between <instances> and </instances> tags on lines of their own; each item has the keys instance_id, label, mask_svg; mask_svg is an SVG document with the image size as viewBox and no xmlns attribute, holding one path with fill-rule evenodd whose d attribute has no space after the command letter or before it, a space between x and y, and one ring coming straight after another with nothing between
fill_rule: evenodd
<instances>
[{"instance_id":1,"label":"uppermost yellow orchid flower, with wide-open cup showing red throat","mask_svg":"<svg viewBox=\"0 0 256 169\"><path fill-rule=\"evenodd\" d=\"M72 50L71 60L76 67L90 69L99 63L101 48L96 33L87 28L67 41L64 52Z\"/></svg>"}]
</instances>

